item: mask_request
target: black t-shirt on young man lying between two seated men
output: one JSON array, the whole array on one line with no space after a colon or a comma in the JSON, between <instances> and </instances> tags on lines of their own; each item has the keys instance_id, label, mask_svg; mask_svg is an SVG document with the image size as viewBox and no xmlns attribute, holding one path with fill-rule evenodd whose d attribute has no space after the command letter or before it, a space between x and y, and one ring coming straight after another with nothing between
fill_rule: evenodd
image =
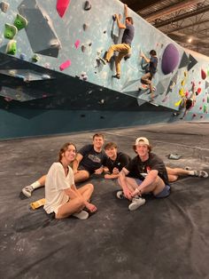
<instances>
[{"instance_id":1,"label":"black t-shirt on young man lying between two seated men","mask_svg":"<svg viewBox=\"0 0 209 279\"><path fill-rule=\"evenodd\" d=\"M118 152L117 157L114 161L112 161L111 158L107 157L104 160L104 166L106 166L111 173L113 171L113 168L117 168L119 169L119 171L121 171L123 167L126 167L128 165L130 160L131 159L127 154Z\"/></svg>"}]
</instances>

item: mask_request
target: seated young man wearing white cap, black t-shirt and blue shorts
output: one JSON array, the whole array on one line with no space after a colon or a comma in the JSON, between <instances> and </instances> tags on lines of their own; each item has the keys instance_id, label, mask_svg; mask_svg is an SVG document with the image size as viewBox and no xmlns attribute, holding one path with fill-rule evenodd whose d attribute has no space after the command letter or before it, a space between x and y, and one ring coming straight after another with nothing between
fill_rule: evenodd
<instances>
[{"instance_id":1,"label":"seated young man wearing white cap, black t-shirt and blue shorts","mask_svg":"<svg viewBox=\"0 0 209 279\"><path fill-rule=\"evenodd\" d=\"M134 149L137 155L120 171L122 191L117 193L118 198L125 196L131 201L128 206L130 211L145 203L143 194L151 193L157 198L170 195L166 166L159 156L151 153L149 140L137 138ZM129 172L134 178L127 177Z\"/></svg>"}]
</instances>

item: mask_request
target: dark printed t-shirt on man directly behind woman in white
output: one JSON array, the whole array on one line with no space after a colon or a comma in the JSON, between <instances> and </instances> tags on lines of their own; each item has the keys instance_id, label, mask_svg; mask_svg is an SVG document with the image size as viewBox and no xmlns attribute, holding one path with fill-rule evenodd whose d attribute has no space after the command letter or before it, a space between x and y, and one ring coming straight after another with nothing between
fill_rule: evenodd
<instances>
[{"instance_id":1,"label":"dark printed t-shirt on man directly behind woman in white","mask_svg":"<svg viewBox=\"0 0 209 279\"><path fill-rule=\"evenodd\" d=\"M104 160L106 158L104 150L101 152L95 151L93 144L81 147L78 153L83 156L80 165L85 170L90 172L94 172L99 169L104 164Z\"/></svg>"}]
</instances>

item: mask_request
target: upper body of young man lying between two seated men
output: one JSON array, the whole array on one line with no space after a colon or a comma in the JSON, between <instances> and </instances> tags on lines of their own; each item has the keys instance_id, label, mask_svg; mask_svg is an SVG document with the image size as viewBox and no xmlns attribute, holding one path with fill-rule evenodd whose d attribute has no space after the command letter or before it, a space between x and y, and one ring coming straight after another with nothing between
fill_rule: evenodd
<instances>
[{"instance_id":1,"label":"upper body of young man lying between two seated men","mask_svg":"<svg viewBox=\"0 0 209 279\"><path fill-rule=\"evenodd\" d=\"M118 152L118 147L114 142L106 143L104 152L107 155L104 161L104 179L117 179L122 168L130 162L130 157L123 152Z\"/></svg>"}]
</instances>

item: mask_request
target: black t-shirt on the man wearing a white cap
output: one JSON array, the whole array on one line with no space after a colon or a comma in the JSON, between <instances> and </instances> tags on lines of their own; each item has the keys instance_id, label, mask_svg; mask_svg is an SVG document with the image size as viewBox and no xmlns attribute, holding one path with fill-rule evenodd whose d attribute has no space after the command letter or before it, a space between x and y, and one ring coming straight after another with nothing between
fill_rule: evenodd
<instances>
[{"instance_id":1,"label":"black t-shirt on the man wearing a white cap","mask_svg":"<svg viewBox=\"0 0 209 279\"><path fill-rule=\"evenodd\" d=\"M159 177L163 179L165 184L168 184L165 163L158 155L153 153L150 153L149 159L145 162L142 162L139 155L136 155L135 158L128 163L126 169L130 171L131 177L142 180L144 179L143 173L148 173L151 170L157 170L159 171Z\"/></svg>"}]
</instances>

